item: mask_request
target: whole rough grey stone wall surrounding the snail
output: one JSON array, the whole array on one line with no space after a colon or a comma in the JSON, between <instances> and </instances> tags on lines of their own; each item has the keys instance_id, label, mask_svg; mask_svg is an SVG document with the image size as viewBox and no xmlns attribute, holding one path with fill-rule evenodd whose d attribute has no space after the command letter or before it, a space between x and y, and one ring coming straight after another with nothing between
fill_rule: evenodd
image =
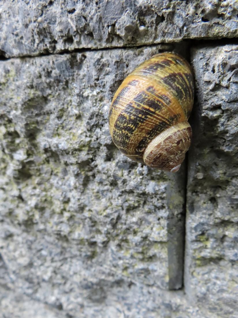
<instances>
[{"instance_id":1,"label":"whole rough grey stone wall surrounding the snail","mask_svg":"<svg viewBox=\"0 0 238 318\"><path fill-rule=\"evenodd\" d=\"M3 1L0 19L0 317L235 318L237 2ZM196 86L173 176L108 128L164 51Z\"/></svg>"}]
</instances>

